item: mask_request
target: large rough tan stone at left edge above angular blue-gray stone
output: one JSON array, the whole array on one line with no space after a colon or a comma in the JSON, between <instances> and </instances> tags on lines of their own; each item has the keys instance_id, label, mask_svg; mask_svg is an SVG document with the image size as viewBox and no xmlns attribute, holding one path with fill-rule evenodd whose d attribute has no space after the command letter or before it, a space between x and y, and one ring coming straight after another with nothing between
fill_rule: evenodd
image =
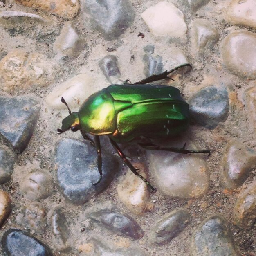
<instances>
[{"instance_id":1,"label":"large rough tan stone at left edge above angular blue-gray stone","mask_svg":"<svg viewBox=\"0 0 256 256\"><path fill-rule=\"evenodd\" d=\"M1 88L9 93L31 92L49 84L56 69L56 63L42 54L13 50L0 61Z\"/></svg>"}]
</instances>

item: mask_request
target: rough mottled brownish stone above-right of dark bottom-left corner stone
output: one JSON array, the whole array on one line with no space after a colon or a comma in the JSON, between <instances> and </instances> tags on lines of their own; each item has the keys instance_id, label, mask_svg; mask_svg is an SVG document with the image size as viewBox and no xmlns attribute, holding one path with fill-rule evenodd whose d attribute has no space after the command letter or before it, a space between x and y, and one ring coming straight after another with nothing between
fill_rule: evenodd
<instances>
[{"instance_id":1,"label":"rough mottled brownish stone above-right of dark bottom-left corner stone","mask_svg":"<svg viewBox=\"0 0 256 256\"><path fill-rule=\"evenodd\" d=\"M16 222L25 229L44 234L47 210L41 204L31 203L21 207L16 216Z\"/></svg>"}]
</instances>

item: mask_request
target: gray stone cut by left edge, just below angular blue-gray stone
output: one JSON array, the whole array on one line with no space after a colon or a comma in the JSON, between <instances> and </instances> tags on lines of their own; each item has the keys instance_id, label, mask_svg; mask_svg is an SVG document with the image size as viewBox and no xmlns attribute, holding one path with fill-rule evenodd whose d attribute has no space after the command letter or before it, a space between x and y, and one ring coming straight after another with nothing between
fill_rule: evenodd
<instances>
[{"instance_id":1,"label":"gray stone cut by left edge, just below angular blue-gray stone","mask_svg":"<svg viewBox=\"0 0 256 256\"><path fill-rule=\"evenodd\" d=\"M0 146L0 184L11 180L16 155L6 146Z\"/></svg>"}]
</instances>

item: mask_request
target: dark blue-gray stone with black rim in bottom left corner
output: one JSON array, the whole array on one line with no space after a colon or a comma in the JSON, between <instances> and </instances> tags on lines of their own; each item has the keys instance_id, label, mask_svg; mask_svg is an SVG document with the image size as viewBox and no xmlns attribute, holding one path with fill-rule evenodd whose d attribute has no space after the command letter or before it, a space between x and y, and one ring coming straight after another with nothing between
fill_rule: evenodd
<instances>
[{"instance_id":1,"label":"dark blue-gray stone with black rim in bottom left corner","mask_svg":"<svg viewBox=\"0 0 256 256\"><path fill-rule=\"evenodd\" d=\"M52 256L46 245L20 229L8 229L2 236L1 245L8 256Z\"/></svg>"}]
</instances>

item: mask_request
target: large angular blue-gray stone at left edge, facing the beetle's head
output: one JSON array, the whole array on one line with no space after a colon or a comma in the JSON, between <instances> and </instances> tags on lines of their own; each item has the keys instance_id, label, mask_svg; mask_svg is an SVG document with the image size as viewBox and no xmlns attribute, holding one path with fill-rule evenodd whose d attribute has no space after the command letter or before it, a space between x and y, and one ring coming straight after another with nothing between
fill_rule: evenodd
<instances>
[{"instance_id":1,"label":"large angular blue-gray stone at left edge, facing the beetle's head","mask_svg":"<svg viewBox=\"0 0 256 256\"><path fill-rule=\"evenodd\" d=\"M31 96L0 97L0 134L21 153L29 143L38 119L37 101Z\"/></svg>"}]
</instances>

